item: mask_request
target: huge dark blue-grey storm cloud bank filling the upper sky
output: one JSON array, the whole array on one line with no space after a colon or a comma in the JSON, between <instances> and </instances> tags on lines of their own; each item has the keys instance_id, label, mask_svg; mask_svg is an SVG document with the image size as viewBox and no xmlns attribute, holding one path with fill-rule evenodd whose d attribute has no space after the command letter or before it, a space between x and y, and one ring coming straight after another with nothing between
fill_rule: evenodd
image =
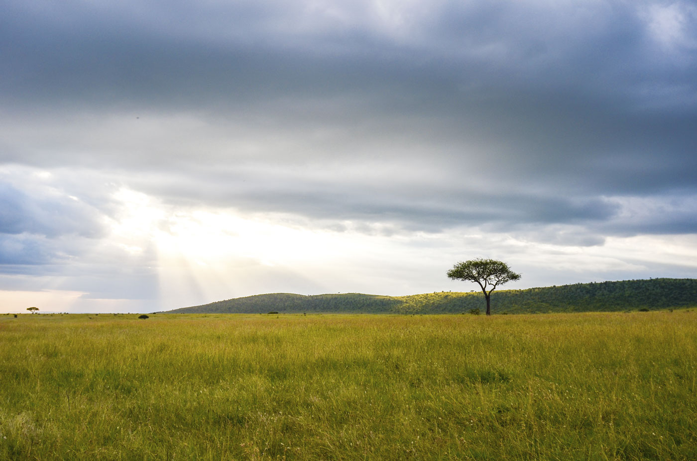
<instances>
[{"instance_id":1,"label":"huge dark blue-grey storm cloud bank filling the upper sky","mask_svg":"<svg viewBox=\"0 0 697 461\"><path fill-rule=\"evenodd\" d=\"M694 203L652 221L614 199L697 195L691 3L7 6L6 162L408 230L694 231ZM200 125L147 125L172 114ZM341 167L362 165L376 173ZM27 216L6 225L38 226Z\"/></svg>"}]
</instances>

